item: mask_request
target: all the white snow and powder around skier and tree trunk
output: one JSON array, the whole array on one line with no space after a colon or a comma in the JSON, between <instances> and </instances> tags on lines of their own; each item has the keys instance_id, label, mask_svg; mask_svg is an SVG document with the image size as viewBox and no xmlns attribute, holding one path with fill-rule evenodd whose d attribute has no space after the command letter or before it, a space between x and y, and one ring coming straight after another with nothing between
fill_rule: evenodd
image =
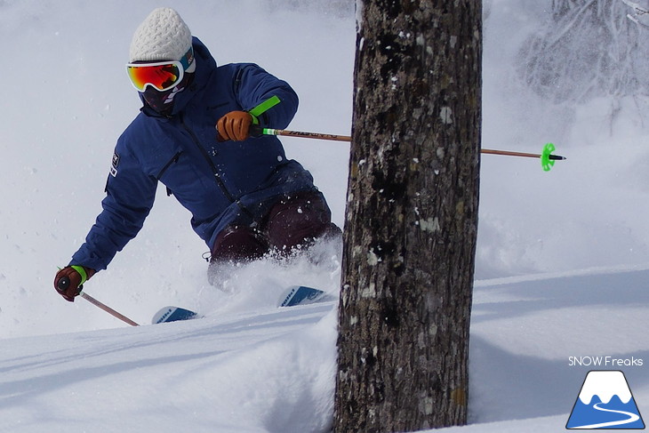
<instances>
[{"instance_id":1,"label":"all the white snow and powder around skier and tree trunk","mask_svg":"<svg viewBox=\"0 0 649 433\"><path fill-rule=\"evenodd\" d=\"M356 17L342 2L173 1L220 63L255 61L300 95L292 129L349 134ZM207 284L206 247L160 188L139 237L86 290L142 324L124 325L52 289L57 266L100 211L116 138L139 108L124 63L159 4L0 2L0 430L324 432L333 413L336 308L277 309L287 285L335 293L331 266L260 261ZM625 373L649 413L649 148L642 99L552 106L515 78L513 58L549 0L485 2L485 148L471 325L469 426L549 432L590 370ZM638 109L639 107L639 109ZM619 115L609 120L613 111ZM283 139L342 224L349 145ZM200 320L146 325L165 305ZM581 357L642 360L576 365ZM628 364L628 365L627 365Z\"/></svg>"}]
</instances>

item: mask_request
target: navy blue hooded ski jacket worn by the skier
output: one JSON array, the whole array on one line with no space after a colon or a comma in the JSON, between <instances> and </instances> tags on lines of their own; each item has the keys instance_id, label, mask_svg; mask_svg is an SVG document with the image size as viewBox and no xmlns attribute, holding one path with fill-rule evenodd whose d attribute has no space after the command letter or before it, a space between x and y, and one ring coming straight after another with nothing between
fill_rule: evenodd
<instances>
[{"instance_id":1,"label":"navy blue hooded ski jacket worn by the skier","mask_svg":"<svg viewBox=\"0 0 649 433\"><path fill-rule=\"evenodd\" d=\"M228 225L260 222L280 197L317 190L274 136L217 141L220 116L273 96L281 102L259 116L260 125L285 128L298 107L291 86L252 63L217 67L196 37L193 46L195 76L173 95L172 116L145 103L117 140L103 211L70 264L106 269L142 228L158 181L192 213L192 227L210 249Z\"/></svg>"}]
</instances>

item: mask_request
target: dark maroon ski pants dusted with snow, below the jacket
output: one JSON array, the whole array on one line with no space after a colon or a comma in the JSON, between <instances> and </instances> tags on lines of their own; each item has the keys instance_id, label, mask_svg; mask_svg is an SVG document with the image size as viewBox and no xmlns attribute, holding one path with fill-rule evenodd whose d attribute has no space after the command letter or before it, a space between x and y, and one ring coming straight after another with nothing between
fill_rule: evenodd
<instances>
[{"instance_id":1,"label":"dark maroon ski pants dusted with snow, below the jacket","mask_svg":"<svg viewBox=\"0 0 649 433\"><path fill-rule=\"evenodd\" d=\"M317 192L301 192L279 200L258 227L229 226L212 248L211 265L259 259L274 251L289 254L318 237L341 234L332 212Z\"/></svg>"}]
</instances>

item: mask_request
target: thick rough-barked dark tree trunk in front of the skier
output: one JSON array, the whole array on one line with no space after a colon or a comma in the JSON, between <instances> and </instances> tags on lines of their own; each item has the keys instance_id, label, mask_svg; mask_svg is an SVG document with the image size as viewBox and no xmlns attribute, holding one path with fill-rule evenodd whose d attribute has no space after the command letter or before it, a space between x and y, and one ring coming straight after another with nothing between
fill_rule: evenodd
<instances>
[{"instance_id":1,"label":"thick rough-barked dark tree trunk in front of the skier","mask_svg":"<svg viewBox=\"0 0 649 433\"><path fill-rule=\"evenodd\" d=\"M357 3L335 429L463 424L480 0Z\"/></svg>"}]
</instances>

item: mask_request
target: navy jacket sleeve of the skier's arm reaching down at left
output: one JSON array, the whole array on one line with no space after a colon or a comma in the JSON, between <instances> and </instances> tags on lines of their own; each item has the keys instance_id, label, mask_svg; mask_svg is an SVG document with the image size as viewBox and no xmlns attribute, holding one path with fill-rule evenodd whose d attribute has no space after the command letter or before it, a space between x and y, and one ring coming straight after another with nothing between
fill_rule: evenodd
<instances>
[{"instance_id":1,"label":"navy jacket sleeve of the skier's arm reaching down at left","mask_svg":"<svg viewBox=\"0 0 649 433\"><path fill-rule=\"evenodd\" d=\"M115 254L135 237L156 197L157 180L142 172L137 159L118 141L106 184L103 211L72 256L70 264L106 269Z\"/></svg>"}]
</instances>

